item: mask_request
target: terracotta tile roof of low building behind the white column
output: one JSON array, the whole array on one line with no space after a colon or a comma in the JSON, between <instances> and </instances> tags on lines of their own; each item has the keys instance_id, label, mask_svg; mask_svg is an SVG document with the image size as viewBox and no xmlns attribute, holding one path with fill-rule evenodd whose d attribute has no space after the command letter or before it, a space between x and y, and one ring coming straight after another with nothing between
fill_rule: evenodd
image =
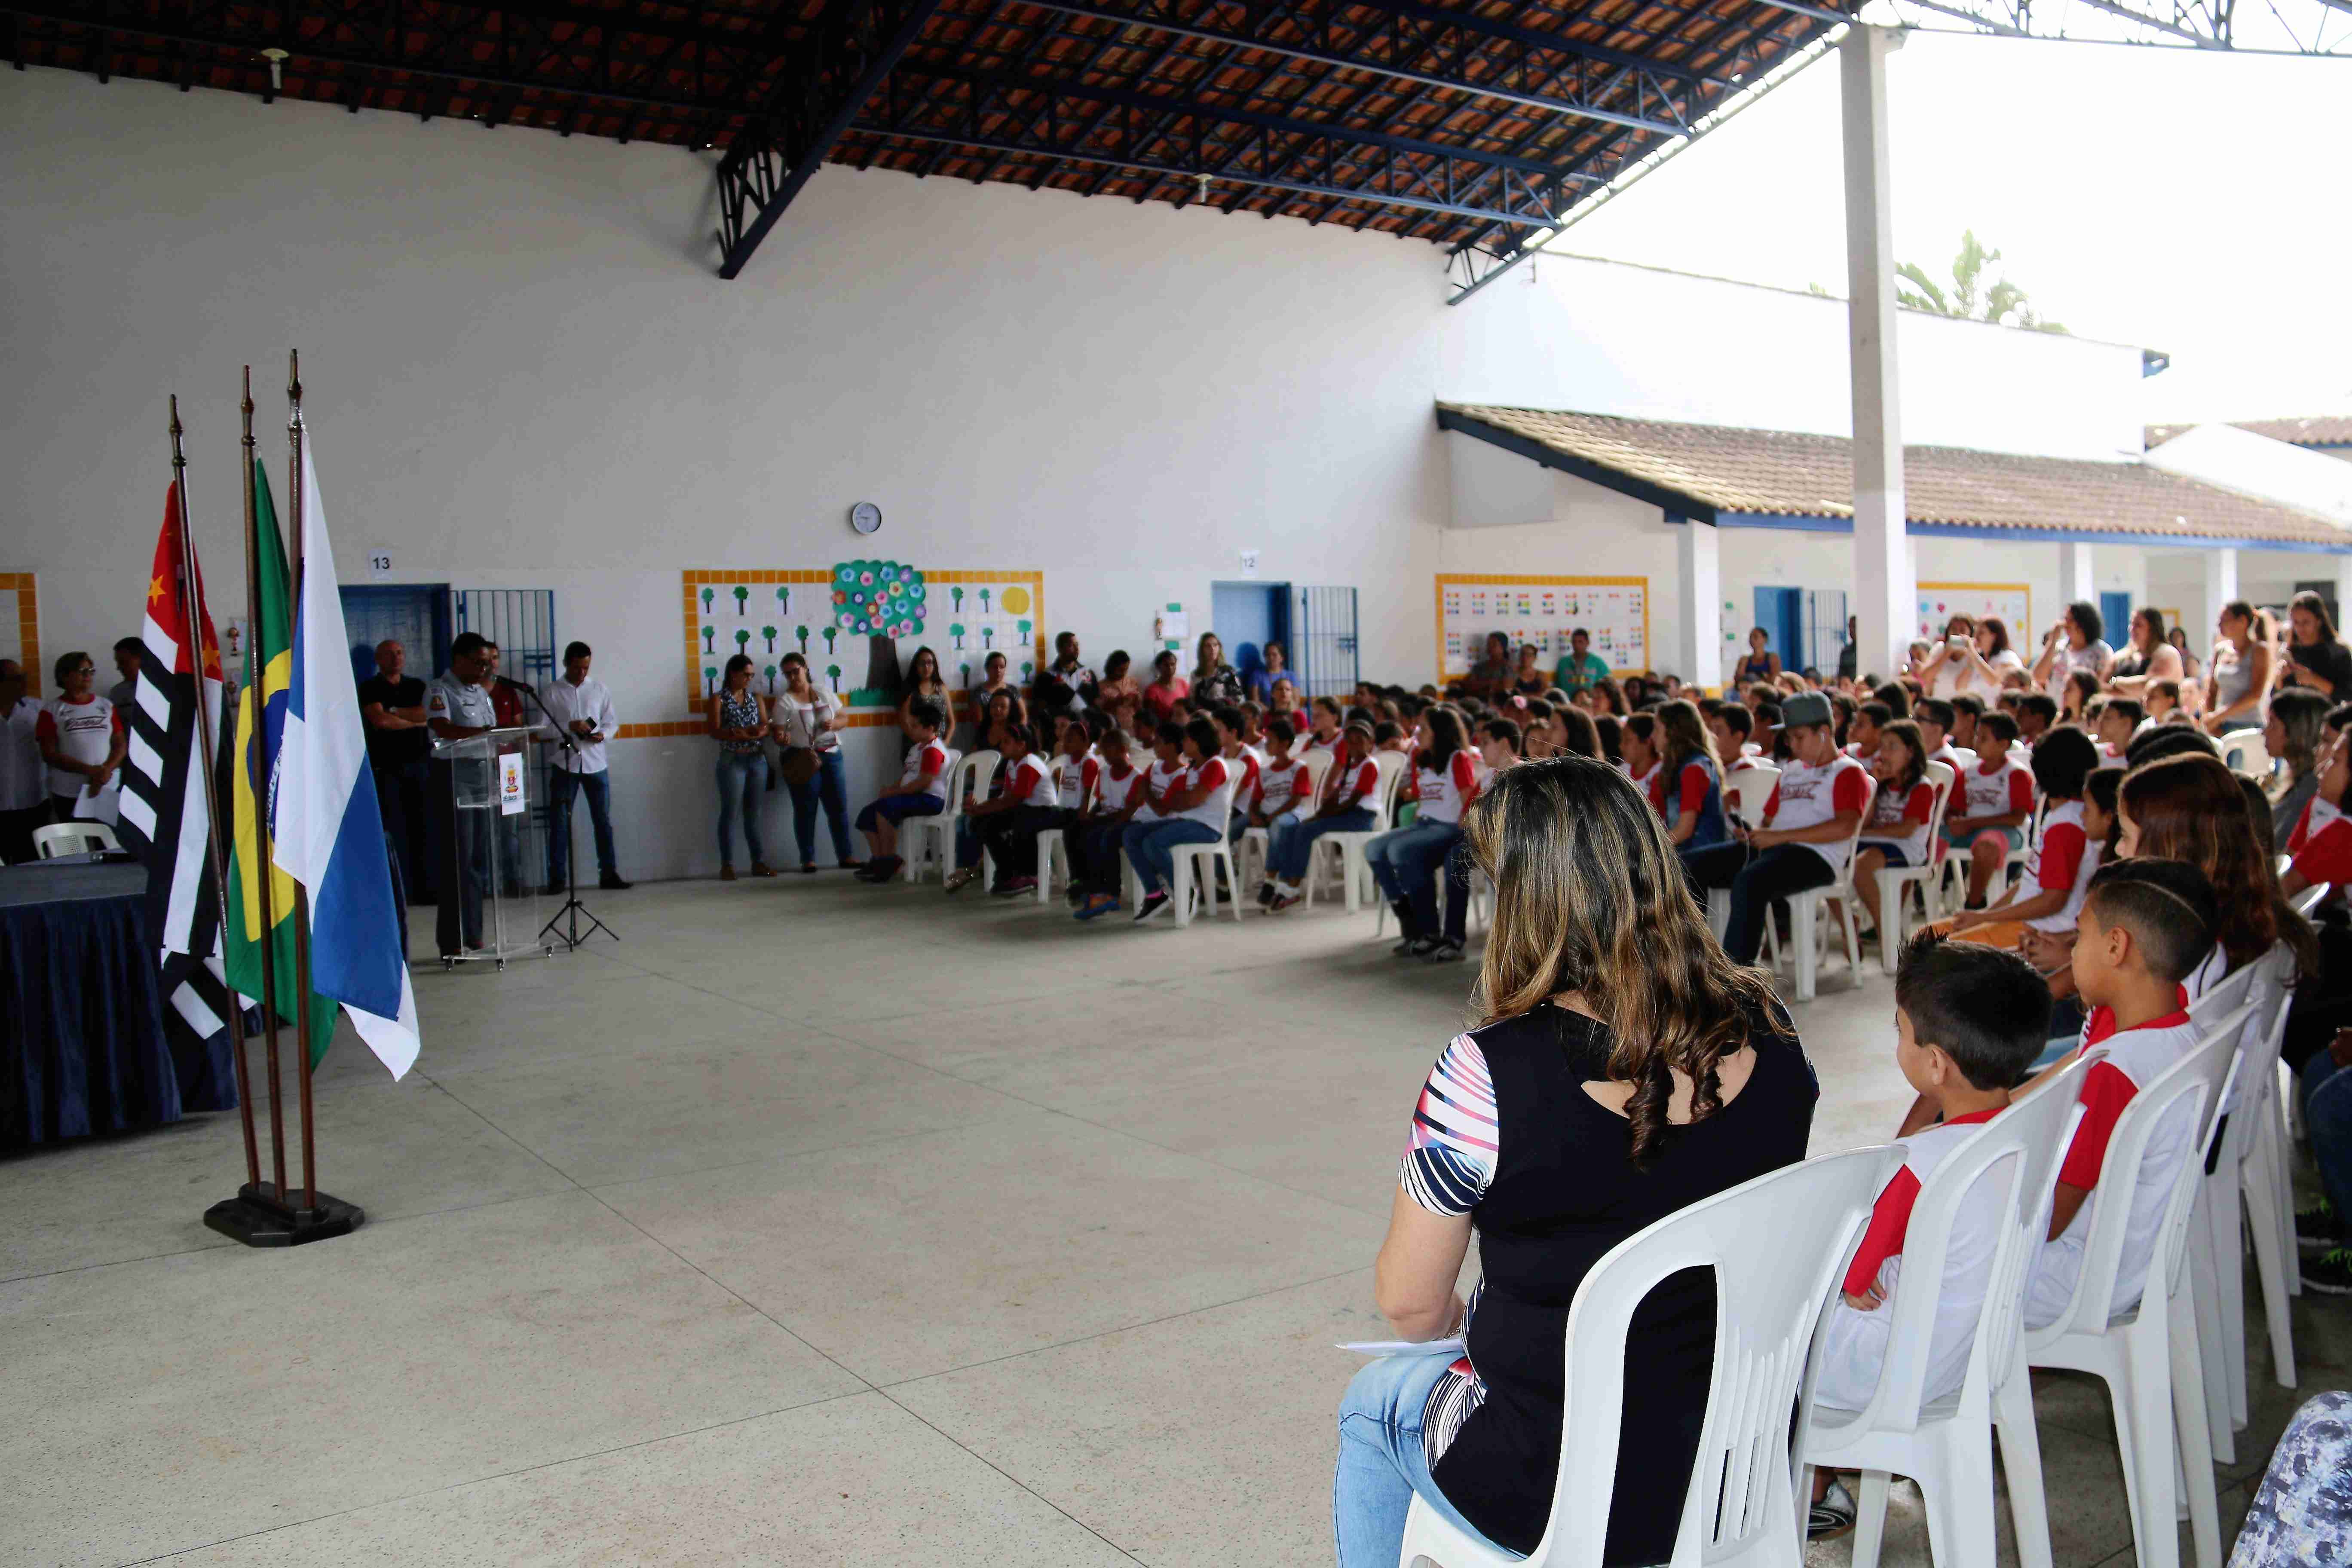
<instances>
[{"instance_id":1,"label":"terracotta tile roof of low building behind the white column","mask_svg":"<svg viewBox=\"0 0 2352 1568\"><path fill-rule=\"evenodd\" d=\"M1562 456L1689 496L1717 512L1853 517L1853 442L1842 435L1491 404L1437 407ZM1910 522L1922 527L2065 529L2352 548L2352 531L2317 512L2126 461L1905 447L1903 496Z\"/></svg>"}]
</instances>

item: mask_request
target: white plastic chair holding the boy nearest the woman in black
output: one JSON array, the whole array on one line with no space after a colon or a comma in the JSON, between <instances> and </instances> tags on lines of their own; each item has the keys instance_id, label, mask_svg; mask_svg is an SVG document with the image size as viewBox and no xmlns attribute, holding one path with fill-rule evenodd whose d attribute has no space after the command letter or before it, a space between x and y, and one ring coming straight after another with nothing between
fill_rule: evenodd
<instances>
[{"instance_id":1,"label":"white plastic chair holding the boy nearest the woman in black","mask_svg":"<svg viewBox=\"0 0 2352 1568\"><path fill-rule=\"evenodd\" d=\"M1912 1204L1903 1237L1903 1281L1879 1307L1891 1314L1886 1363L1863 1410L1816 1406L1799 1439L1806 1469L1860 1469L1853 1568L1877 1568L1893 1476L1912 1476L1926 1497L1929 1554L1938 1563L1992 1563L1992 1432L2002 1432L2009 1512L2023 1568L2051 1566L2049 1500L2042 1495L2042 1441L2032 1380L2018 1363L2025 1272L2049 1229L2058 1159L2082 1119L2082 1077L2072 1063L2018 1100L1936 1166ZM1985 1300L1957 1394L1926 1399L1936 1309L1943 1298L1952 1225L1978 1182L1992 1182L1999 1239L1985 1260ZM1976 1201L1987 1201L1976 1199ZM1802 1493L1799 1493L1802 1495Z\"/></svg>"}]
</instances>

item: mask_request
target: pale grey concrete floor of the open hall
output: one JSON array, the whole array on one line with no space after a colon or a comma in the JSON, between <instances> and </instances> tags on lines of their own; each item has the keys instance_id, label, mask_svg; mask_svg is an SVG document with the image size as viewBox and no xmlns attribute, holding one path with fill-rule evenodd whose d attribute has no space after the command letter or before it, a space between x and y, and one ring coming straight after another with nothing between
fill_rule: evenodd
<instances>
[{"instance_id":1,"label":"pale grey concrete floor of the open hall","mask_svg":"<svg viewBox=\"0 0 2352 1568\"><path fill-rule=\"evenodd\" d=\"M1322 905L1077 929L828 872L595 907L621 945L421 969L402 1084L346 1025L353 1237L202 1227L235 1117L0 1161L0 1561L1331 1561L1331 1345L1388 1338L1369 1262L1470 969ZM1907 1105L1891 997L1797 1009L1816 1152ZM2340 1305L2296 1333L2288 1394L2256 1331L2232 1530L2352 1385ZM2058 1561L2129 1563L2098 1387L2037 1385Z\"/></svg>"}]
</instances>

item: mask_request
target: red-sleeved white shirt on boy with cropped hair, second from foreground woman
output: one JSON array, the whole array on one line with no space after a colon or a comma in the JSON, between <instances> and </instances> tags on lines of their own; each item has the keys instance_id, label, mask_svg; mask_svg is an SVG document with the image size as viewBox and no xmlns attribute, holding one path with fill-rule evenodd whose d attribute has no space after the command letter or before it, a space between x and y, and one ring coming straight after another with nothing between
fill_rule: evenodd
<instances>
[{"instance_id":1,"label":"red-sleeved white shirt on boy with cropped hair, second from foreground woman","mask_svg":"<svg viewBox=\"0 0 2352 1568\"><path fill-rule=\"evenodd\" d=\"M2084 1020L2084 1046L2103 1046L2107 1056L2091 1063L2091 1072L2082 1079L2082 1121L2074 1126L2065 1164L2058 1166L2058 1180L2070 1187L2089 1187L2091 1197L2074 1213L2065 1234L2044 1241L2034 1253L2032 1274L2025 1281L2027 1328L2056 1324L2067 1302L2074 1300L2091 1213L2098 1204L2131 1204L2124 1255L2114 1272L2114 1309L2129 1312L2138 1305L2157 1255L2164 1201L2171 1197L2173 1178L2180 1175L2180 1161L2197 1154L2197 1117L2187 1114L2185 1103L2176 1105L2147 1143L2138 1171L2107 1171L2107 1140L2114 1135L2114 1121L2124 1107L2197 1048L2197 1034L2199 1025L2190 1023L2185 1001L2178 1013L2166 1013L2136 1030L2117 1030L2114 1016L2103 1006L2091 1009L2091 1018Z\"/></svg>"}]
</instances>

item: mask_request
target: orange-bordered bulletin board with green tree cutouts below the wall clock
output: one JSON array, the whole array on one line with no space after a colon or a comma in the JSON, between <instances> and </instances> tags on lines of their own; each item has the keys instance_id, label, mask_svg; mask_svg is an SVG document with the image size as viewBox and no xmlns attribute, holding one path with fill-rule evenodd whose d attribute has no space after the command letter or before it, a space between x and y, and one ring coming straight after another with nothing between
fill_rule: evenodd
<instances>
[{"instance_id":1,"label":"orange-bordered bulletin board with green tree cutouts below the wall clock","mask_svg":"<svg viewBox=\"0 0 2352 1568\"><path fill-rule=\"evenodd\" d=\"M776 661L802 654L809 672L842 698L851 722L898 705L863 684L868 639L889 637L898 668L917 649L962 696L990 651L1025 684L1047 658L1042 571L929 571L908 562L849 559L828 569L680 571L687 646L687 710L699 715L734 654L753 658L753 689L783 689Z\"/></svg>"}]
</instances>

